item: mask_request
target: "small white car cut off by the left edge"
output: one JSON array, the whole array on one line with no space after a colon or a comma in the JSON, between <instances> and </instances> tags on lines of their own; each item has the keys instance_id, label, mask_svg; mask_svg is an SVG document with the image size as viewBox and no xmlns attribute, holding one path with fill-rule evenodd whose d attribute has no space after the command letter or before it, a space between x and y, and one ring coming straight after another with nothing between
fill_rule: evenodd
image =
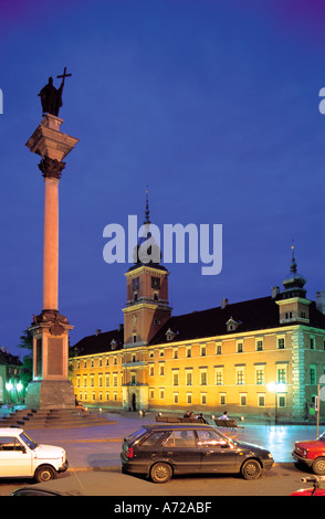
<instances>
[{"instance_id":1,"label":"small white car cut off by the left edge","mask_svg":"<svg viewBox=\"0 0 325 519\"><path fill-rule=\"evenodd\" d=\"M64 448L38 444L22 428L0 428L0 477L49 481L67 466Z\"/></svg>"}]
</instances>

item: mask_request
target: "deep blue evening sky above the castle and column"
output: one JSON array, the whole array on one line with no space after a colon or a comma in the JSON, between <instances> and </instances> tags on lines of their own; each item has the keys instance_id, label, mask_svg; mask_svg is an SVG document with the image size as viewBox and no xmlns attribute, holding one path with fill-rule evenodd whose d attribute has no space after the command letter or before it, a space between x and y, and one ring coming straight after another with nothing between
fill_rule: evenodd
<instances>
[{"instance_id":1,"label":"deep blue evening sky above the castle and column","mask_svg":"<svg viewBox=\"0 0 325 519\"><path fill-rule=\"evenodd\" d=\"M295 241L307 297L325 288L322 2L1 0L1 328L12 353L42 310L43 179L25 142L64 66L60 311L71 343L123 322L128 264L104 226L221 223L223 268L167 265L174 315L271 294ZM59 86L59 80L55 80Z\"/></svg>"}]
</instances>

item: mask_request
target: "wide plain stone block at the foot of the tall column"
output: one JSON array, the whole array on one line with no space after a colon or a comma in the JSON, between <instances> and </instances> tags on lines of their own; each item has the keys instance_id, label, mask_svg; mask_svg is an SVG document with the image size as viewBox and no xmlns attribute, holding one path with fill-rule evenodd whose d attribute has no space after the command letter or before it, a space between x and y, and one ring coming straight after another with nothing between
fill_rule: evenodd
<instances>
[{"instance_id":1,"label":"wide plain stone block at the foot of the tall column","mask_svg":"<svg viewBox=\"0 0 325 519\"><path fill-rule=\"evenodd\" d=\"M74 388L69 380L30 382L25 396L27 409L73 409Z\"/></svg>"}]
</instances>

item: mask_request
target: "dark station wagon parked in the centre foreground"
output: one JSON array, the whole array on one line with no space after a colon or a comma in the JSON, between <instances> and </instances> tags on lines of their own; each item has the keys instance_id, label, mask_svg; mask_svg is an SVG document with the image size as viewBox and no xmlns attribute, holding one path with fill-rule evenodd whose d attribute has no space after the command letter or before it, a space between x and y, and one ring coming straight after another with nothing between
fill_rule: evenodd
<instances>
[{"instance_id":1,"label":"dark station wagon parked in the centre foreground","mask_svg":"<svg viewBox=\"0 0 325 519\"><path fill-rule=\"evenodd\" d=\"M255 445L233 441L211 425L153 424L124 438L124 473L143 474L166 483L177 474L240 473L258 478L272 467L272 454Z\"/></svg>"}]
</instances>

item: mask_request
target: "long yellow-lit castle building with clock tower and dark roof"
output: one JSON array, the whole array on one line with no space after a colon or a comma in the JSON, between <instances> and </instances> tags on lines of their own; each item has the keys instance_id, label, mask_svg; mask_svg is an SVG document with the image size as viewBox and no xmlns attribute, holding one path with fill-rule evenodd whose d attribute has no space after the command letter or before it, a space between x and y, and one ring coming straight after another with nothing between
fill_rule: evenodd
<instances>
[{"instance_id":1,"label":"long yellow-lit castle building with clock tower and dark roof","mask_svg":"<svg viewBox=\"0 0 325 519\"><path fill-rule=\"evenodd\" d=\"M308 417L325 373L324 301L323 293L306 297L294 252L282 290L182 316L171 315L160 263L136 254L125 275L124 325L72 348L72 381L85 405Z\"/></svg>"}]
</instances>

